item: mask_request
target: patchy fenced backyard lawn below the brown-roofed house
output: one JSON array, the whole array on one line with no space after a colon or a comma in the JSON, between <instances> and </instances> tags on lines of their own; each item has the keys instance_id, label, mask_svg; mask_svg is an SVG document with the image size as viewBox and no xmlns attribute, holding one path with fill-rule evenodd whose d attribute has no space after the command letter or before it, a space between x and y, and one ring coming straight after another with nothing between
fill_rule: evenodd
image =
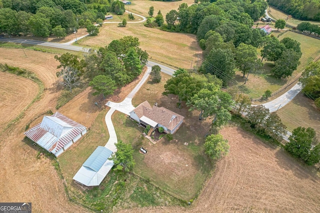
<instances>
[{"instance_id":1,"label":"patchy fenced backyard lawn below the brown-roofed house","mask_svg":"<svg viewBox=\"0 0 320 213\"><path fill-rule=\"evenodd\" d=\"M124 114L116 112L112 120L117 121L114 128L118 140L135 148L135 174L179 199L188 201L197 195L212 169L204 155L202 135L183 125L171 142L162 140L152 144L141 136L143 128ZM146 155L139 153L141 146L148 151Z\"/></svg>"}]
</instances>

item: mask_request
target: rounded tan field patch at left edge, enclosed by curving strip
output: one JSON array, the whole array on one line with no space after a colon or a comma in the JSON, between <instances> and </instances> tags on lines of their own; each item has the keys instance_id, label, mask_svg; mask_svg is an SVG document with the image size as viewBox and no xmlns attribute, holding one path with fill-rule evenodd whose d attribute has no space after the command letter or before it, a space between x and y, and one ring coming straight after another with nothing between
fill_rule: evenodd
<instances>
[{"instance_id":1,"label":"rounded tan field patch at left edge, enclosed by curving strip","mask_svg":"<svg viewBox=\"0 0 320 213\"><path fill-rule=\"evenodd\" d=\"M29 79L1 71L0 82L0 129L3 129L33 100L39 88Z\"/></svg>"}]
</instances>

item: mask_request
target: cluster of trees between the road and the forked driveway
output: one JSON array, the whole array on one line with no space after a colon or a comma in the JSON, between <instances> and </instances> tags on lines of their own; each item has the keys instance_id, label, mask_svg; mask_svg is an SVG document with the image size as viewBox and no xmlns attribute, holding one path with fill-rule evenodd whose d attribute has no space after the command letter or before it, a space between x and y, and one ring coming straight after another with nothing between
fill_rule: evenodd
<instances>
[{"instance_id":1,"label":"cluster of trees between the road and the forked driveway","mask_svg":"<svg viewBox=\"0 0 320 213\"><path fill-rule=\"evenodd\" d=\"M64 53L54 58L60 62L56 73L60 84L70 92L80 83L86 83L95 89L93 95L113 94L137 77L147 63L148 54L139 47L136 37L124 36L113 40L98 51L89 51L83 57Z\"/></svg>"}]
</instances>

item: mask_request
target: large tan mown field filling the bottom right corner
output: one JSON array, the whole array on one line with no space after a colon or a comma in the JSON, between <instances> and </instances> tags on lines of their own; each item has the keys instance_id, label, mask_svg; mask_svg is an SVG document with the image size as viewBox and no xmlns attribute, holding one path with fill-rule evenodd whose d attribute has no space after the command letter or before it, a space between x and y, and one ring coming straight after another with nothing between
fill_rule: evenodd
<instances>
[{"instance_id":1,"label":"large tan mown field filling the bottom right corner","mask_svg":"<svg viewBox=\"0 0 320 213\"><path fill-rule=\"evenodd\" d=\"M316 213L320 211L320 180L313 167L282 149L261 142L236 127L220 131L229 154L190 208L159 207L123 213Z\"/></svg>"}]
</instances>

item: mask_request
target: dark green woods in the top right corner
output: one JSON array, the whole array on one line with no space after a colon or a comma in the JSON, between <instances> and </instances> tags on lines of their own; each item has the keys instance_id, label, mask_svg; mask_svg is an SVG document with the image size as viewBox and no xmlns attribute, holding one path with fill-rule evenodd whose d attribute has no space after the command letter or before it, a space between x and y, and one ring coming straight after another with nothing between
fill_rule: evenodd
<instances>
[{"instance_id":1,"label":"dark green woods in the top right corner","mask_svg":"<svg viewBox=\"0 0 320 213\"><path fill-rule=\"evenodd\" d=\"M268 3L300 20L320 20L320 0L268 0Z\"/></svg>"}]
</instances>

